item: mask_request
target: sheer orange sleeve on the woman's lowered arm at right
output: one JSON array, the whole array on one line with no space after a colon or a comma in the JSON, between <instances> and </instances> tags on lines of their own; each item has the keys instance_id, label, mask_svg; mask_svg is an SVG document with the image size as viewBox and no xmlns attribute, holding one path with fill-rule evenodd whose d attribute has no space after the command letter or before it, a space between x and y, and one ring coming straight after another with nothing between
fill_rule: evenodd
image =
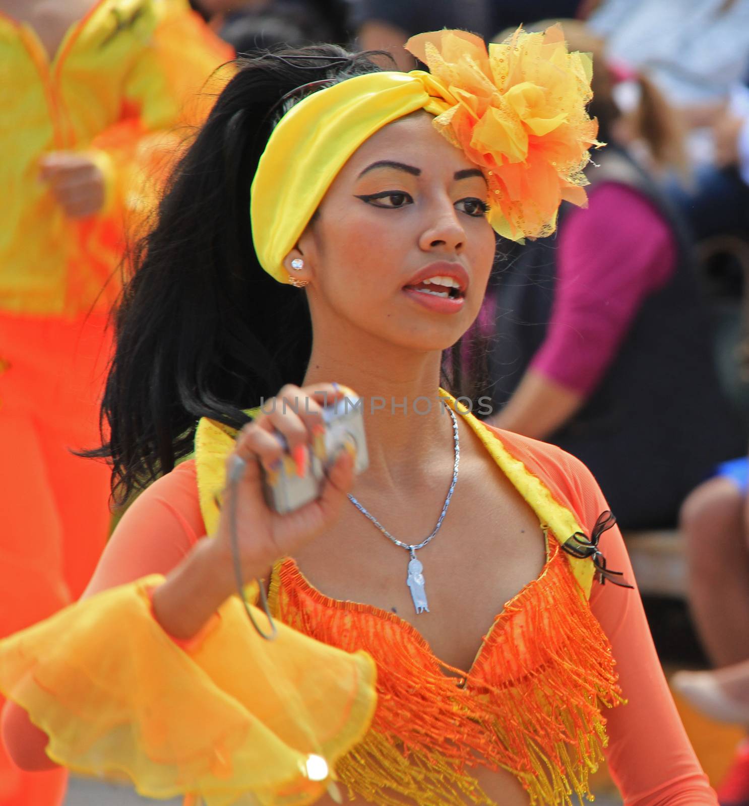
<instances>
[{"instance_id":1,"label":"sheer orange sleeve on the woman's lowered arm at right","mask_svg":"<svg viewBox=\"0 0 749 806\"><path fill-rule=\"evenodd\" d=\"M576 513L589 534L609 505L588 468L556 446L507 431L501 438ZM601 535L599 547L608 567L623 571L624 579L636 585L618 526ZM590 607L611 642L627 700L606 713L605 750L625 806L717 806L668 689L639 591L594 582Z\"/></svg>"}]
</instances>

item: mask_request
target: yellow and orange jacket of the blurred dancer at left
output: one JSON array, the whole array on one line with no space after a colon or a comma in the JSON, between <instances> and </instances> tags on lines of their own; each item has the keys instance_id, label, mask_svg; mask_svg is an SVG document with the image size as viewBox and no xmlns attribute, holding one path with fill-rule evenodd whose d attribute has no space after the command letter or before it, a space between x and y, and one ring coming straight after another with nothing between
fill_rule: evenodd
<instances>
[{"instance_id":1,"label":"yellow and orange jacket of the blurred dancer at left","mask_svg":"<svg viewBox=\"0 0 749 806\"><path fill-rule=\"evenodd\" d=\"M31 27L0 15L0 310L110 305L144 171L173 152L177 124L206 113L196 90L233 56L183 0L92 3L52 61ZM40 158L55 151L94 156L106 177L99 214L67 218L40 181Z\"/></svg>"}]
</instances>

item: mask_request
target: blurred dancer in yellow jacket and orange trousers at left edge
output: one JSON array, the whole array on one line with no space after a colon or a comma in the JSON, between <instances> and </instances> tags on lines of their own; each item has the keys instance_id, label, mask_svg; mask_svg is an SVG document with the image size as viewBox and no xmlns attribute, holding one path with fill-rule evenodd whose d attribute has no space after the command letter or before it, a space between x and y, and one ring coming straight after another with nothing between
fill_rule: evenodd
<instances>
[{"instance_id":1,"label":"blurred dancer in yellow jacket and orange trousers at left edge","mask_svg":"<svg viewBox=\"0 0 749 806\"><path fill-rule=\"evenodd\" d=\"M232 56L181 0L0 0L0 637L76 599L101 554L109 469L71 449L98 440L125 222ZM0 745L2 806L59 804L65 780Z\"/></svg>"}]
</instances>

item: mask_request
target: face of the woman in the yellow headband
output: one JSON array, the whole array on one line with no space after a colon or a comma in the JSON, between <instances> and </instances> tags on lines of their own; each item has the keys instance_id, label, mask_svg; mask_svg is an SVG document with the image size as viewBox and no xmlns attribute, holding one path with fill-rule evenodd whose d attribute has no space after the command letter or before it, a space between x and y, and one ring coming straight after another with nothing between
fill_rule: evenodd
<instances>
[{"instance_id":1,"label":"face of the woman in the yellow headband","mask_svg":"<svg viewBox=\"0 0 749 806\"><path fill-rule=\"evenodd\" d=\"M486 182L433 119L413 114L372 135L299 240L316 334L339 321L349 336L443 350L476 318L495 244Z\"/></svg>"}]
</instances>

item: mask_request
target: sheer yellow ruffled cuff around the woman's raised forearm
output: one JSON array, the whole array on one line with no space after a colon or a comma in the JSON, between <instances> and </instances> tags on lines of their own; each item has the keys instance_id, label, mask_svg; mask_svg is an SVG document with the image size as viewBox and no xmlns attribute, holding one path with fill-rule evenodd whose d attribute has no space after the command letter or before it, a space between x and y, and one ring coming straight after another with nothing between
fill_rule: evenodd
<instances>
[{"instance_id":1,"label":"sheer yellow ruffled cuff around the woman's raised forearm","mask_svg":"<svg viewBox=\"0 0 749 806\"><path fill-rule=\"evenodd\" d=\"M310 804L363 737L375 667L278 624L265 641L232 596L187 648L152 616L151 575L101 592L0 642L0 690L48 733L48 755L130 779L152 798L206 806ZM256 618L264 616L256 610ZM192 797L189 797L192 796Z\"/></svg>"}]
</instances>

